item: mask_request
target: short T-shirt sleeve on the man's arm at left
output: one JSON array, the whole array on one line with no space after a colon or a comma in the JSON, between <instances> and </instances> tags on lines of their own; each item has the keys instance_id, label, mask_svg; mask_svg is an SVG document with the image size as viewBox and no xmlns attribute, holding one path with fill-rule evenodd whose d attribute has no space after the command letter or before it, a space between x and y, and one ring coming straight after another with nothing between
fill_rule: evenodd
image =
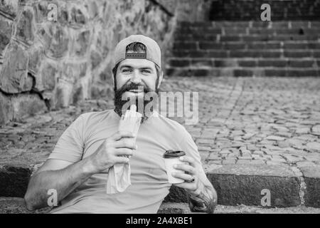
<instances>
[{"instance_id":1,"label":"short T-shirt sleeve on the man's arm at left","mask_svg":"<svg viewBox=\"0 0 320 228\"><path fill-rule=\"evenodd\" d=\"M48 159L78 162L82 158L84 120L80 115L60 136Z\"/></svg>"}]
</instances>

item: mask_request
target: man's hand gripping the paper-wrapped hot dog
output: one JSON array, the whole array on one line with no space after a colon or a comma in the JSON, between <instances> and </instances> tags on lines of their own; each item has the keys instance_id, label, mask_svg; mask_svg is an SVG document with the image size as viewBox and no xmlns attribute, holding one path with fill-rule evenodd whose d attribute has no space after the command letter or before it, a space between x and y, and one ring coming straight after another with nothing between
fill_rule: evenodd
<instances>
[{"instance_id":1,"label":"man's hand gripping the paper-wrapped hot dog","mask_svg":"<svg viewBox=\"0 0 320 228\"><path fill-rule=\"evenodd\" d=\"M88 157L90 170L102 172L117 163L129 163L129 156L137 149L134 135L129 132L117 132L107 138L97 150Z\"/></svg>"}]
</instances>

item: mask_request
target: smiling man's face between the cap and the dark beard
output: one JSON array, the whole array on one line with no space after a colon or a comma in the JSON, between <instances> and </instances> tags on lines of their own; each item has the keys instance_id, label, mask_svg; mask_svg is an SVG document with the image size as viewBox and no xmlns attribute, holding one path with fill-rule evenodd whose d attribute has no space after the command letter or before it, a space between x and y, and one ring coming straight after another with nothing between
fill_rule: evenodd
<instances>
[{"instance_id":1,"label":"smiling man's face between the cap and the dark beard","mask_svg":"<svg viewBox=\"0 0 320 228\"><path fill-rule=\"evenodd\" d=\"M144 92L156 90L156 66L146 59L125 59L117 68L115 78L117 90L126 90L125 97L137 96L142 98ZM144 90L139 90L143 88Z\"/></svg>"}]
</instances>

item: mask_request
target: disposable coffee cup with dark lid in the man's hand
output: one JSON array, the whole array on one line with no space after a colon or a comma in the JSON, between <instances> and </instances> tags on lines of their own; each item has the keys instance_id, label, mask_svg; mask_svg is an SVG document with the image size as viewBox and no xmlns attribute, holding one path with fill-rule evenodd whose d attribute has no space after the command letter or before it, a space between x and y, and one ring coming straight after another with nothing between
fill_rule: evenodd
<instances>
[{"instance_id":1,"label":"disposable coffee cup with dark lid in the man's hand","mask_svg":"<svg viewBox=\"0 0 320 228\"><path fill-rule=\"evenodd\" d=\"M174 168L174 165L185 164L185 162L181 162L181 160L179 160L179 157L183 155L186 155L186 152L181 150L166 150L166 152L164 153L164 165L166 166L166 174L168 175L168 180L171 184L184 182L184 180L172 176L173 172L184 173L184 171L176 170Z\"/></svg>"}]
</instances>

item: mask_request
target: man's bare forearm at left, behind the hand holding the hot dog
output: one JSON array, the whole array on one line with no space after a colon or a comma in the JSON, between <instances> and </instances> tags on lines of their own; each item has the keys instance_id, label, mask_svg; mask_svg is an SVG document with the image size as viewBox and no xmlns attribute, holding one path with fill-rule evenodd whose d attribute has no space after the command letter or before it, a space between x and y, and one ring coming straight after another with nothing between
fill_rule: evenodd
<instances>
[{"instance_id":1,"label":"man's bare forearm at left, behind the hand holding the hot dog","mask_svg":"<svg viewBox=\"0 0 320 228\"><path fill-rule=\"evenodd\" d=\"M46 170L31 177L25 195L29 210L48 207L48 190L57 191L57 202L73 192L85 180L94 174L89 157L75 162L62 170Z\"/></svg>"}]
</instances>

